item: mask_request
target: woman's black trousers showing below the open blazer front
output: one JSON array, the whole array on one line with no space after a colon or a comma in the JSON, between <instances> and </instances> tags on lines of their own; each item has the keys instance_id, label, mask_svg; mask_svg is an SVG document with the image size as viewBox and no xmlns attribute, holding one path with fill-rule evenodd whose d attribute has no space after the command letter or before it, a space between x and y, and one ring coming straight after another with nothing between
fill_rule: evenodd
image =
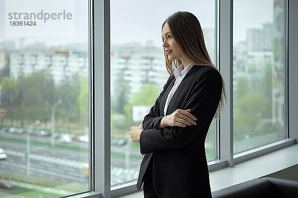
<instances>
[{"instance_id":1,"label":"woman's black trousers showing below the open blazer front","mask_svg":"<svg viewBox=\"0 0 298 198\"><path fill-rule=\"evenodd\" d=\"M146 172L144 174L143 182L143 192L144 198L159 198L156 194L154 183L153 183L153 158L151 157Z\"/></svg>"}]
</instances>

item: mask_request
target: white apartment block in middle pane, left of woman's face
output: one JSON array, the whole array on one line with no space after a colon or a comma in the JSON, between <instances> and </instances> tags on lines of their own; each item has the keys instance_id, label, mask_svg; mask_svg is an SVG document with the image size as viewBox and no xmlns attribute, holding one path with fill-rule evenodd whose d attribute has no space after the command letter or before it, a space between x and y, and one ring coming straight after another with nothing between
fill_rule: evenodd
<instances>
[{"instance_id":1,"label":"white apartment block in middle pane, left of woman's face","mask_svg":"<svg viewBox=\"0 0 298 198\"><path fill-rule=\"evenodd\" d=\"M125 86L125 98L147 84L162 90L169 75L165 68L162 48L112 47L111 48L111 97L117 95L119 86Z\"/></svg>"}]
</instances>

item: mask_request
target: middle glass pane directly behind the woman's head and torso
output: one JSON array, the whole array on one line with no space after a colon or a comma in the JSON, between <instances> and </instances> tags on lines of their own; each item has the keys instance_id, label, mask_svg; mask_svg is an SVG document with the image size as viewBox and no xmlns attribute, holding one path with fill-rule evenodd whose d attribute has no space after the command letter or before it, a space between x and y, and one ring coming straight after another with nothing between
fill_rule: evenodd
<instances>
[{"instance_id":1,"label":"middle glass pane directly behind the woman's head and torso","mask_svg":"<svg viewBox=\"0 0 298 198\"><path fill-rule=\"evenodd\" d=\"M161 25L175 11L195 14L208 52L215 57L215 2L189 0L111 1L111 185L138 179L142 155L130 140L132 125L142 123L169 74L163 56ZM208 160L215 159L215 127L206 140Z\"/></svg>"}]
</instances>

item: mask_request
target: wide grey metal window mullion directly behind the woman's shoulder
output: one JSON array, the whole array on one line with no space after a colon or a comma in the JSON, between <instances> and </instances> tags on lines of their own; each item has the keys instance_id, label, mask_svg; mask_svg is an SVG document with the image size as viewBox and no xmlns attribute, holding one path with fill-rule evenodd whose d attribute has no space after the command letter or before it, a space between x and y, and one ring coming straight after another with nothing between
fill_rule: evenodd
<instances>
[{"instance_id":1,"label":"wide grey metal window mullion directly behind the woman's shoulder","mask_svg":"<svg viewBox=\"0 0 298 198\"><path fill-rule=\"evenodd\" d=\"M219 1L219 68L227 102L220 119L220 159L233 166L233 0Z\"/></svg>"}]
</instances>

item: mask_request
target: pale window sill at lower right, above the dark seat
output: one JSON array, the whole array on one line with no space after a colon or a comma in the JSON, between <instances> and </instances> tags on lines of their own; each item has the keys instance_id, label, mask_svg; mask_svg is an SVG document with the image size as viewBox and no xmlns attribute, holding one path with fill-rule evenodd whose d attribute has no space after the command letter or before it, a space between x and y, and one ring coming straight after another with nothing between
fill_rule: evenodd
<instances>
[{"instance_id":1,"label":"pale window sill at lower right, above the dark seat","mask_svg":"<svg viewBox=\"0 0 298 198\"><path fill-rule=\"evenodd\" d=\"M240 163L238 162L233 167L212 171L210 172L211 189L212 191L217 191L296 165L298 164L297 150L298 144L294 144Z\"/></svg>"}]
</instances>

